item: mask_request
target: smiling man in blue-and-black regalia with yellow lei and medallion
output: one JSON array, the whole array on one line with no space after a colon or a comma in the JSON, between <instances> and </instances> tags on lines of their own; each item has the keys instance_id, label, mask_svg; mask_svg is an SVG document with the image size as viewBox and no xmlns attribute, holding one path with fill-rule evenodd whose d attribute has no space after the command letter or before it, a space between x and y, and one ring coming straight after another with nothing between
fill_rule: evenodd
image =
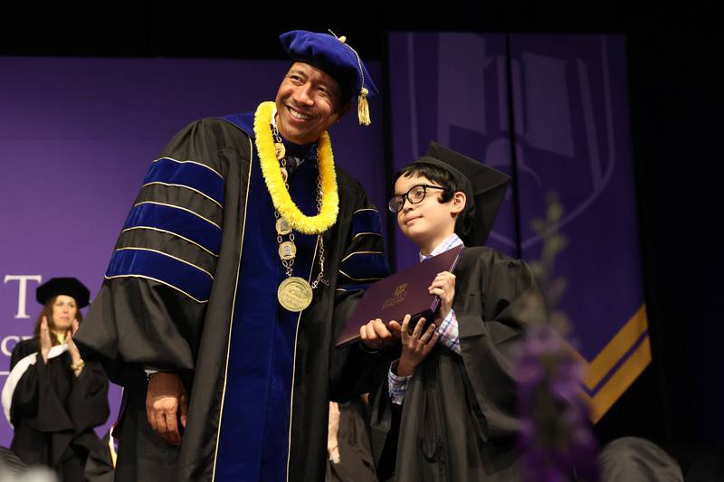
<instances>
[{"instance_id":1,"label":"smiling man in blue-and-black regalia with yellow lei and medallion","mask_svg":"<svg viewBox=\"0 0 724 482\"><path fill-rule=\"evenodd\" d=\"M320 480L329 399L367 390L375 351L333 345L387 274L380 218L326 131L376 87L343 37L280 39L275 102L152 163L77 336L125 387L124 482Z\"/></svg>"}]
</instances>

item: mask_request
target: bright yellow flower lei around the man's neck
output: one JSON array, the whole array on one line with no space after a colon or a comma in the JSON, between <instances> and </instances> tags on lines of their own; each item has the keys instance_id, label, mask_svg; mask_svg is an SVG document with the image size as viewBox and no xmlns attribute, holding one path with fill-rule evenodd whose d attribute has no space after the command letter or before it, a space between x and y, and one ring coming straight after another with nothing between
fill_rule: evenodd
<instances>
[{"instance_id":1,"label":"bright yellow flower lei around the man's neck","mask_svg":"<svg viewBox=\"0 0 724 482\"><path fill-rule=\"evenodd\" d=\"M316 216L301 213L291 200L279 168L279 160L274 151L274 138L271 136L271 114L274 102L262 102L254 114L254 137L256 150L262 165L262 175L266 188L271 194L271 202L281 217L289 222L291 229L304 234L320 234L337 222L339 213L339 194L337 175L334 170L334 155L327 131L319 137L319 172L321 175L321 209Z\"/></svg>"}]
</instances>

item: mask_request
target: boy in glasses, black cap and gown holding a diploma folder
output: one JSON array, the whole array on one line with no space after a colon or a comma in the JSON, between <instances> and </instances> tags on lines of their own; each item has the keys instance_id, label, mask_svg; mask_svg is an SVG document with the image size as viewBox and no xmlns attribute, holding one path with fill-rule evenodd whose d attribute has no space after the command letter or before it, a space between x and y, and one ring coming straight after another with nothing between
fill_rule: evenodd
<instances>
[{"instance_id":1,"label":"boy in glasses, black cap and gown holding a diploma folder","mask_svg":"<svg viewBox=\"0 0 724 482\"><path fill-rule=\"evenodd\" d=\"M454 272L431 283L441 307L426 331L423 323L411 331L409 316L360 329L369 348L401 345L372 395L381 479L520 479L511 352L525 327L542 319L542 304L523 261L482 246L509 182L436 143L395 178L389 208L420 260L465 249Z\"/></svg>"}]
</instances>

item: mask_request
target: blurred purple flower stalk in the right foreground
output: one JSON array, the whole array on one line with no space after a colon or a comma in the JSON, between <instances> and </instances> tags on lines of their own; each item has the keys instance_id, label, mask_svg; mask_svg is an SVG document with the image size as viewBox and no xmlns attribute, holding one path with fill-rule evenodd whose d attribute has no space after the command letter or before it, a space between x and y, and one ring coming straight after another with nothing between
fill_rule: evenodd
<instances>
[{"instance_id":1,"label":"blurred purple flower stalk in the right foreground","mask_svg":"<svg viewBox=\"0 0 724 482\"><path fill-rule=\"evenodd\" d=\"M597 444L580 397L583 368L563 339L570 324L554 310L566 288L565 279L553 279L556 256L567 245L565 236L555 230L562 213L555 195L548 196L548 219L533 223L536 231L548 232L541 259L530 262L548 319L528 327L519 350L519 448L526 480L595 482Z\"/></svg>"}]
</instances>

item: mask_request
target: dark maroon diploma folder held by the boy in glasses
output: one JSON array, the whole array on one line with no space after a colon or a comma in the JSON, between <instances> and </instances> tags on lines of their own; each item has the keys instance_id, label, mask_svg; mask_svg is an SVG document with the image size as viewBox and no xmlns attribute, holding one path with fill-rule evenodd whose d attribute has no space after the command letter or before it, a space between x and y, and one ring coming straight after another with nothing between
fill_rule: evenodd
<instances>
[{"instance_id":1,"label":"dark maroon diploma folder held by the boy in glasses","mask_svg":"<svg viewBox=\"0 0 724 482\"><path fill-rule=\"evenodd\" d=\"M446 250L367 288L335 346L357 341L360 326L367 325L371 319L381 318L385 323L391 320L402 323L405 315L409 314L412 316L411 329L422 317L425 318L425 324L432 323L440 305L440 298L431 295L427 288L438 273L452 272L455 269L463 249L464 246L460 245Z\"/></svg>"}]
</instances>

